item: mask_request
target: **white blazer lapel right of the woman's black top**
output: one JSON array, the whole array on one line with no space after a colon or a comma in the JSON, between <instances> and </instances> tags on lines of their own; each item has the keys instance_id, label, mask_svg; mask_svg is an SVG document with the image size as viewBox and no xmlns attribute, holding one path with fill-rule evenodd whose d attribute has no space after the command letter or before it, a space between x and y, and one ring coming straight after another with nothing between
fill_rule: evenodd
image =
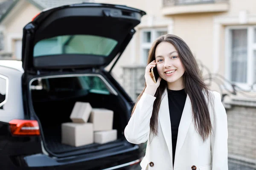
<instances>
[{"instance_id":1,"label":"white blazer lapel right of the woman's black top","mask_svg":"<svg viewBox=\"0 0 256 170\"><path fill-rule=\"evenodd\" d=\"M186 97L186 102L184 105L183 113L180 119L180 125L178 128L178 136L177 136L177 145L175 150L175 159L177 159L177 156L180 153L180 150L182 148L182 145L185 141L186 134L189 130L189 126L192 122L192 105L191 100L189 98L189 95Z\"/></svg>"}]
</instances>

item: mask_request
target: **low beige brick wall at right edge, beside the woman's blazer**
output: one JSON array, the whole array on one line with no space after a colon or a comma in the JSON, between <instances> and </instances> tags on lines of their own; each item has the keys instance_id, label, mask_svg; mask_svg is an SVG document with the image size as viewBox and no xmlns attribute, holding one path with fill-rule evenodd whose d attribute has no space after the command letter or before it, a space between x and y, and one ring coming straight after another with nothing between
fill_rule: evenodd
<instances>
[{"instance_id":1,"label":"low beige brick wall at right edge, beside the woman's blazer","mask_svg":"<svg viewBox=\"0 0 256 170\"><path fill-rule=\"evenodd\" d=\"M227 122L229 155L237 159L255 162L256 108L233 106L227 110Z\"/></svg>"}]
</instances>

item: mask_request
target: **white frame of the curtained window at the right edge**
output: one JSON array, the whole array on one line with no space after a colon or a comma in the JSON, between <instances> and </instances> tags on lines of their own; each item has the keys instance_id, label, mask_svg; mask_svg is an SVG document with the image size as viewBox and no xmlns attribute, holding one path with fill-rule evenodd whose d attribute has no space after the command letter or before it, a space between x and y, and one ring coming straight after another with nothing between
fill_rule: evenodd
<instances>
[{"instance_id":1,"label":"white frame of the curtained window at the right edge","mask_svg":"<svg viewBox=\"0 0 256 170\"><path fill-rule=\"evenodd\" d=\"M256 51L256 42L254 42L254 26L227 26L225 28L225 77L231 83L239 86L244 90L250 90L251 85L253 84L253 51ZM231 31L238 30L238 29L247 29L247 82L232 82L231 81Z\"/></svg>"}]
</instances>

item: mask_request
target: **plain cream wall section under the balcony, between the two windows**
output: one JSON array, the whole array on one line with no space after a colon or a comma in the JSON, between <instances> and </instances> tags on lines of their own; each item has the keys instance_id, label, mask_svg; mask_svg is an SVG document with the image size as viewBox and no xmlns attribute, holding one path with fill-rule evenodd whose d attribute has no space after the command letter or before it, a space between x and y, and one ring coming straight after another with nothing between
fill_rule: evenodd
<instances>
[{"instance_id":1,"label":"plain cream wall section under the balcony, between the two windows","mask_svg":"<svg viewBox=\"0 0 256 170\"><path fill-rule=\"evenodd\" d=\"M190 47L198 61L212 70L212 31L214 14L174 16L174 34Z\"/></svg>"}]
</instances>

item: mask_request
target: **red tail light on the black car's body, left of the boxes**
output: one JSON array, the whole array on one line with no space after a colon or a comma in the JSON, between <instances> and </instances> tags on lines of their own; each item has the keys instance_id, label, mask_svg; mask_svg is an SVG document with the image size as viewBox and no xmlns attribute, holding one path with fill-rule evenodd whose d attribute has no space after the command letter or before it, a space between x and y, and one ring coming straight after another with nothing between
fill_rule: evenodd
<instances>
[{"instance_id":1,"label":"red tail light on the black car's body, left of the boxes","mask_svg":"<svg viewBox=\"0 0 256 170\"><path fill-rule=\"evenodd\" d=\"M36 120L14 119L9 122L11 133L18 136L40 135L39 125Z\"/></svg>"}]
</instances>

